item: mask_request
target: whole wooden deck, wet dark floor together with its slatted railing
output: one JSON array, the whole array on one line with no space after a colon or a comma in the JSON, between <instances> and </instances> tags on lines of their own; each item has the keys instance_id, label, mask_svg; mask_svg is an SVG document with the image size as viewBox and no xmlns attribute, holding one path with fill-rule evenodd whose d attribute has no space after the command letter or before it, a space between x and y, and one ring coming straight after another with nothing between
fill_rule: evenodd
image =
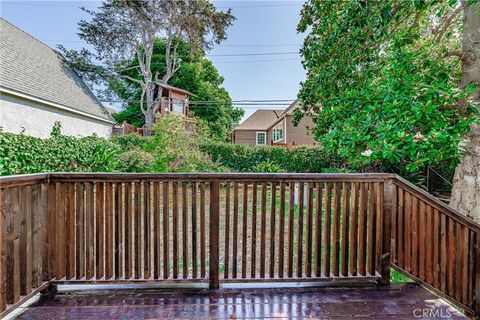
<instances>
[{"instance_id":1,"label":"whole wooden deck, wet dark floor together with its slatted railing","mask_svg":"<svg viewBox=\"0 0 480 320\"><path fill-rule=\"evenodd\" d=\"M396 175L48 173L0 188L0 316L480 315L480 226Z\"/></svg>"}]
</instances>

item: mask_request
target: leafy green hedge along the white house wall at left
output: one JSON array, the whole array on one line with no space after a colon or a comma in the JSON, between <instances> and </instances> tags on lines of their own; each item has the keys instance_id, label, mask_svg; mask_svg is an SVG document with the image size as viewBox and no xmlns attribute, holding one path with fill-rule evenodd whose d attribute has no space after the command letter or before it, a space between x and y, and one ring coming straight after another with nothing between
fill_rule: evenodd
<instances>
[{"instance_id":1,"label":"leafy green hedge along the white house wall at left","mask_svg":"<svg viewBox=\"0 0 480 320\"><path fill-rule=\"evenodd\" d=\"M110 172L117 168L119 152L115 144L96 136L63 136L58 123L48 139L0 132L0 173Z\"/></svg>"}]
</instances>

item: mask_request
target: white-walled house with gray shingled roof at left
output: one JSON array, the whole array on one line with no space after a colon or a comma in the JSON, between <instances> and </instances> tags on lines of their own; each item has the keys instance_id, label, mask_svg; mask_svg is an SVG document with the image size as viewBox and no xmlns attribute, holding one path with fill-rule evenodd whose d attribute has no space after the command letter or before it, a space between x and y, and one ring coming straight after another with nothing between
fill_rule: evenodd
<instances>
[{"instance_id":1,"label":"white-walled house with gray shingled roof at left","mask_svg":"<svg viewBox=\"0 0 480 320\"><path fill-rule=\"evenodd\" d=\"M56 51L0 18L0 127L46 138L56 121L65 135L104 138L114 123Z\"/></svg>"}]
</instances>

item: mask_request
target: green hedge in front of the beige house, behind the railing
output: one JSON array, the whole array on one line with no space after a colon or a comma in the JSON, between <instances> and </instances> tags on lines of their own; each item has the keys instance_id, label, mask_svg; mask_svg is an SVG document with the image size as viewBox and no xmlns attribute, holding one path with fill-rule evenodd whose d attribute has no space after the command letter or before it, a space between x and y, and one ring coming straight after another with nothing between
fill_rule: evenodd
<instances>
[{"instance_id":1,"label":"green hedge in front of the beige house, behind the railing","mask_svg":"<svg viewBox=\"0 0 480 320\"><path fill-rule=\"evenodd\" d=\"M272 170L275 165L276 172L323 172L324 168L343 165L319 146L284 148L207 142L201 145L201 150L213 161L241 172L259 172L267 163Z\"/></svg>"}]
</instances>

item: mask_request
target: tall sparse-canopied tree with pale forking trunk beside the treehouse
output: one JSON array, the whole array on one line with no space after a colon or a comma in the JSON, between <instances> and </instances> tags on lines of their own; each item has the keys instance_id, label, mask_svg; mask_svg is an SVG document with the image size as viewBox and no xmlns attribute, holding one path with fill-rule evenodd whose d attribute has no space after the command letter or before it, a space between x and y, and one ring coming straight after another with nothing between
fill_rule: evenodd
<instances>
[{"instance_id":1,"label":"tall sparse-canopied tree with pale forking trunk beside the treehouse","mask_svg":"<svg viewBox=\"0 0 480 320\"><path fill-rule=\"evenodd\" d=\"M218 11L208 0L104 0L97 10L83 10L91 19L79 22L79 36L95 50L61 48L64 56L77 71L91 78L124 79L139 85L147 134L159 105L155 82L167 84L180 67L177 53L181 42L205 52L226 39L226 29L235 19L230 9ZM152 70L154 44L159 37L166 44L161 73ZM132 57L137 61L135 66L130 64ZM139 71L140 78L129 77L132 68Z\"/></svg>"}]
</instances>

